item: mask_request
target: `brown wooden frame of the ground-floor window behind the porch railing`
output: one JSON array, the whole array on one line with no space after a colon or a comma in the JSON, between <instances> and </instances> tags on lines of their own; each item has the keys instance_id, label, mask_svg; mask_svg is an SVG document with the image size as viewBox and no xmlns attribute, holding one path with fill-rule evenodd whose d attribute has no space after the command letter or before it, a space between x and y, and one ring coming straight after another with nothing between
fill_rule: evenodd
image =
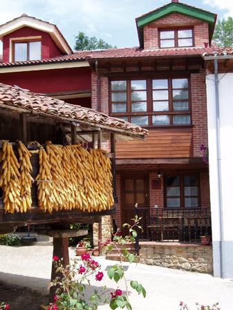
<instances>
[{"instance_id":1,"label":"brown wooden frame of the ground-floor window behind the porch railing","mask_svg":"<svg viewBox=\"0 0 233 310\"><path fill-rule=\"evenodd\" d=\"M171 196L172 197L180 197L180 206L174 206L174 207L171 207L171 206L167 206L167 186L166 186L166 177L180 177L180 186L169 186L169 187L180 187L180 196ZM190 195L190 196L187 196L187 197L197 197L198 199L198 206L185 206L185 186L184 186L184 178L185 177L196 177L197 180L198 180L198 185L197 185L197 188L198 188L198 195ZM166 173L164 175L164 205L165 205L165 208L167 209L172 209L172 208L185 208L185 209L195 209L195 208L201 208L201 189L200 189L200 175L198 173Z\"/></svg>"}]
</instances>

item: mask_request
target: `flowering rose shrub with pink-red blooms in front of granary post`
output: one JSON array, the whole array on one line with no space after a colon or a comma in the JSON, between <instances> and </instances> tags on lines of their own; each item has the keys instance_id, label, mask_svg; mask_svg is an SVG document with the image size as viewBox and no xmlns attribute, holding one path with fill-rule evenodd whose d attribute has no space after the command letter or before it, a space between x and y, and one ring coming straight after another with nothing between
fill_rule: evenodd
<instances>
[{"instance_id":1,"label":"flowering rose shrub with pink-red blooms in front of granary post","mask_svg":"<svg viewBox=\"0 0 233 310\"><path fill-rule=\"evenodd\" d=\"M124 224L129 228L130 235L122 238L121 236L116 236L113 238L113 245L111 240L106 240L101 245L108 248L109 251L115 246L116 249L127 241L135 242L137 236L136 227L140 219L136 218L134 224L131 226L129 224ZM125 249L123 252L120 251L120 264L115 264L109 271L107 275L110 279L114 280L118 284L119 280L124 280L124 286L126 293L122 292L122 289L117 287L117 289L101 289L101 291L95 290L94 293L87 298L85 296L85 285L91 284L91 279L95 281L102 281L104 278L104 273L101 271L100 264L93 260L88 253L81 255L81 262L75 259L72 264L64 267L63 260L59 260L57 256L53 256L53 264L56 267L57 277L53 281L52 285L57 287L56 295L54 296L54 301L48 306L48 310L95 310L97 309L100 302L109 303L111 309L115 310L117 308L126 308L127 310L132 310L131 304L129 302L129 289L127 285L127 279L124 275L124 269L122 266L122 255L127 257L129 262L133 262L135 255L128 253ZM130 281L130 286L135 289L138 294L142 293L145 298L146 291L142 284L137 281Z\"/></svg>"}]
</instances>

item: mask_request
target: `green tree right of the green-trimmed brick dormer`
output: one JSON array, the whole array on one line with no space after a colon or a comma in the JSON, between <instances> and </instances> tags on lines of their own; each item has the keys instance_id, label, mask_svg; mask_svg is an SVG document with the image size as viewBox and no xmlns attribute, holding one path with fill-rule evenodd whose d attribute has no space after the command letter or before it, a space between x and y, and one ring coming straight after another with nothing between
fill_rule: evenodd
<instances>
[{"instance_id":1,"label":"green tree right of the green-trimmed brick dormer","mask_svg":"<svg viewBox=\"0 0 233 310\"><path fill-rule=\"evenodd\" d=\"M233 47L233 19L218 19L213 37L214 43L221 47Z\"/></svg>"}]
</instances>

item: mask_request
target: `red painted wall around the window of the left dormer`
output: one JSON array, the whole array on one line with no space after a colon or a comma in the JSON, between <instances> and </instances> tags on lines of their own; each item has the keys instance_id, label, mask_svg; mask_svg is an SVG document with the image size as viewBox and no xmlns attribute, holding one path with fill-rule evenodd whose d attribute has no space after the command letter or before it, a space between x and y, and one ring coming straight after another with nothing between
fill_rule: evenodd
<instances>
[{"instance_id":1,"label":"red painted wall around the window of the left dormer","mask_svg":"<svg viewBox=\"0 0 233 310\"><path fill-rule=\"evenodd\" d=\"M62 55L61 50L59 50L59 48L56 46L55 42L47 32L30 27L23 27L3 37L3 62L9 61L10 38L34 37L34 36L41 36L42 59Z\"/></svg>"}]
</instances>

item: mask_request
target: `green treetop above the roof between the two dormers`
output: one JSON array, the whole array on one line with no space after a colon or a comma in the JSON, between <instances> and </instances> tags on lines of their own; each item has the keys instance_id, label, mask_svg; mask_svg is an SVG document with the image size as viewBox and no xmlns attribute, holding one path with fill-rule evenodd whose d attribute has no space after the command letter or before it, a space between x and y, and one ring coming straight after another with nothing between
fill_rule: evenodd
<instances>
[{"instance_id":1,"label":"green treetop above the roof between the two dormers","mask_svg":"<svg viewBox=\"0 0 233 310\"><path fill-rule=\"evenodd\" d=\"M88 37L82 31L75 36L75 50L97 50L99 48L105 50L106 48L116 48L116 46L111 46L111 44L96 37Z\"/></svg>"}]
</instances>

